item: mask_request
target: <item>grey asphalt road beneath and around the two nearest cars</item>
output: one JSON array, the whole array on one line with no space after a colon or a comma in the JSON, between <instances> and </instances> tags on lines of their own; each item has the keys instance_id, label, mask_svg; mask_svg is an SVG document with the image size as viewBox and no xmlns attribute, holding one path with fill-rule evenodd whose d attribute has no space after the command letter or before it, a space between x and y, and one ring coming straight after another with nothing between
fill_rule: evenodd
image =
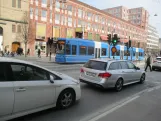
<instances>
[{"instance_id":1,"label":"grey asphalt road beneath and around the two nearest cars","mask_svg":"<svg viewBox=\"0 0 161 121\"><path fill-rule=\"evenodd\" d=\"M65 73L75 79L79 78L79 68L81 67L81 64L59 65L45 62L34 63L37 63L51 70L57 70L59 72ZM129 98L136 93L161 84L159 71L147 72L146 75L147 78L144 84L134 84L124 87L121 92L115 92L112 89L101 90L99 88L81 83L82 98L71 108L66 110L49 109L11 121L85 121L86 119L92 117L92 115L94 115L96 112L98 113L107 106L116 104L117 102Z\"/></svg>"}]
</instances>

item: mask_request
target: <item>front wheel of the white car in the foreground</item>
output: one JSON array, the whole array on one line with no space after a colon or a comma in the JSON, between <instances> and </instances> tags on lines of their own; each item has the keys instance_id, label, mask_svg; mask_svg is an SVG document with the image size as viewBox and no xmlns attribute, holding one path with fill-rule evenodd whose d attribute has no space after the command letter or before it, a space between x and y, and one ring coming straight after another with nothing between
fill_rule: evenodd
<instances>
[{"instance_id":1,"label":"front wheel of the white car in the foreground","mask_svg":"<svg viewBox=\"0 0 161 121\"><path fill-rule=\"evenodd\" d=\"M57 108L66 109L75 102L75 93L72 89L64 90L58 98Z\"/></svg>"}]
</instances>

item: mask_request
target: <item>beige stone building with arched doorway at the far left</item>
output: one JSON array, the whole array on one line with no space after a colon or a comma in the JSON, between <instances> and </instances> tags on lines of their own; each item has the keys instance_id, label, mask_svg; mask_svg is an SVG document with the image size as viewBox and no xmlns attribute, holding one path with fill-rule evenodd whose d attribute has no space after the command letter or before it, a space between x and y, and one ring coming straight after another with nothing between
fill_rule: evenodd
<instances>
[{"instance_id":1,"label":"beige stone building with arched doorway at the far left","mask_svg":"<svg viewBox=\"0 0 161 121\"><path fill-rule=\"evenodd\" d=\"M29 2L0 0L0 50L15 52L24 48L21 37L24 15L29 12Z\"/></svg>"}]
</instances>

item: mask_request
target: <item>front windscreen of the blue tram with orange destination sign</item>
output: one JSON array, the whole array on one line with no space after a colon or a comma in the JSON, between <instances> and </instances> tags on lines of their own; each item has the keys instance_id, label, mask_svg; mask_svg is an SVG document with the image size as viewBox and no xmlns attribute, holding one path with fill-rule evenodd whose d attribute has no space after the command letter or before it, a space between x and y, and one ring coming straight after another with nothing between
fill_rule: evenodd
<instances>
[{"instance_id":1,"label":"front windscreen of the blue tram with orange destination sign","mask_svg":"<svg viewBox=\"0 0 161 121\"><path fill-rule=\"evenodd\" d=\"M56 54L64 54L65 53L65 41L58 41Z\"/></svg>"}]
</instances>

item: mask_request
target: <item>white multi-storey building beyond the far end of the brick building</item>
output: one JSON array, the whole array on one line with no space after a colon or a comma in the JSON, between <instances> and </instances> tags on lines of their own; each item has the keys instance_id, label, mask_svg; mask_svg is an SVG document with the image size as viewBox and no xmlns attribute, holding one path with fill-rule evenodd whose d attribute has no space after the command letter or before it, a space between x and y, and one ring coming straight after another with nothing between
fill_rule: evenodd
<instances>
[{"instance_id":1,"label":"white multi-storey building beyond the far end of the brick building","mask_svg":"<svg viewBox=\"0 0 161 121\"><path fill-rule=\"evenodd\" d=\"M154 54L159 52L159 34L151 25L148 26L147 52Z\"/></svg>"}]
</instances>

